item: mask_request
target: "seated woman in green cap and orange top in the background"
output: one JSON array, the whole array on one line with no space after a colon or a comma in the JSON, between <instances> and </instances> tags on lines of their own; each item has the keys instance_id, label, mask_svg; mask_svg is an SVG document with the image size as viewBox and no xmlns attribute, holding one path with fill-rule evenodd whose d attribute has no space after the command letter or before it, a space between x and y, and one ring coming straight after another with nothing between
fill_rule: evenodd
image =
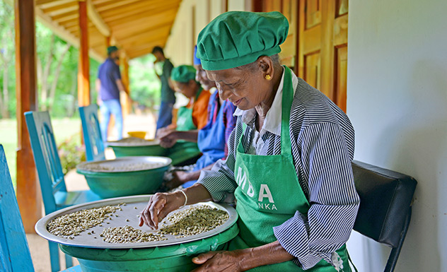
<instances>
[{"instance_id":1,"label":"seated woman in green cap and orange top in the background","mask_svg":"<svg viewBox=\"0 0 447 272\"><path fill-rule=\"evenodd\" d=\"M178 109L175 129L166 127L158 129L157 132L160 145L169 148L168 157L173 159L173 165L190 165L200 155L197 134L198 130L207 124L211 93L209 90L203 90L200 83L195 81L195 74L195 68L190 65L175 67L170 74L174 89L190 100L185 107Z\"/></svg>"}]
</instances>

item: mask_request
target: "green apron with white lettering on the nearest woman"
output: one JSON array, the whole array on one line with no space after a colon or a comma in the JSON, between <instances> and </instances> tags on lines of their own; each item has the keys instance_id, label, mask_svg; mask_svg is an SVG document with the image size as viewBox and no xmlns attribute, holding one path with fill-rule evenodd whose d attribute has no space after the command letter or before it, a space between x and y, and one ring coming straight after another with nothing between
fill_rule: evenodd
<instances>
[{"instance_id":1,"label":"green apron with white lettering on the nearest woman","mask_svg":"<svg viewBox=\"0 0 447 272\"><path fill-rule=\"evenodd\" d=\"M277 241L273 227L289 220L296 211L307 214L309 203L298 183L291 155L289 120L293 87L291 71L284 67L284 88L281 111L281 155L245 154L241 139L236 153L235 191L238 211L239 235L231 241L229 249L259 247ZM244 124L244 127L245 124ZM337 250L344 272L351 271L347 261L346 247ZM260 266L250 271L303 271L294 262ZM308 271L335 272L336 269L321 260ZM340 270L342 271L342 270Z\"/></svg>"}]
</instances>

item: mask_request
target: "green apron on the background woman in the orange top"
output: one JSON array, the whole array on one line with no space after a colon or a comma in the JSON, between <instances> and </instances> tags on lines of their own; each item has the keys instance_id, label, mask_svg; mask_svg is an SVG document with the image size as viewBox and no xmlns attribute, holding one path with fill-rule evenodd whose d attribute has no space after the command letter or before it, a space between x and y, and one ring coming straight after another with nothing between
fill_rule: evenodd
<instances>
[{"instance_id":1,"label":"green apron on the background woman in the orange top","mask_svg":"<svg viewBox=\"0 0 447 272\"><path fill-rule=\"evenodd\" d=\"M202 93L202 88L199 88L195 100ZM178 131L190 131L197 129L194 122L192 122L192 108L180 107L177 112L177 130ZM197 143L190 141L179 140L172 148L168 150L168 157L173 160L173 165L177 165L180 162L195 158L200 154Z\"/></svg>"}]
</instances>

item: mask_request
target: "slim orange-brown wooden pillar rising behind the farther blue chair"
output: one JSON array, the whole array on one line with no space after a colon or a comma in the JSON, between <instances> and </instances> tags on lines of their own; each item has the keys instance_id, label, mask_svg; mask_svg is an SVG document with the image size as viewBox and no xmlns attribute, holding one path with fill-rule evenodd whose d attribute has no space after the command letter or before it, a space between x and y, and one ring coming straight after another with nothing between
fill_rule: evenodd
<instances>
[{"instance_id":1,"label":"slim orange-brown wooden pillar rising behind the farther blue chair","mask_svg":"<svg viewBox=\"0 0 447 272\"><path fill-rule=\"evenodd\" d=\"M87 3L79 0L79 68L78 68L78 104L90 105L90 61L88 59L88 17Z\"/></svg>"}]
</instances>

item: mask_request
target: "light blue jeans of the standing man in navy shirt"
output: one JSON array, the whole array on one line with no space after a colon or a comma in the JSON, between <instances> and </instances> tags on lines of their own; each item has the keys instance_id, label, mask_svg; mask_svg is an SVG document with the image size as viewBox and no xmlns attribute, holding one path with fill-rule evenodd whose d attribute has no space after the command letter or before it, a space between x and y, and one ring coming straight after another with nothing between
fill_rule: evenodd
<instances>
[{"instance_id":1,"label":"light blue jeans of the standing man in navy shirt","mask_svg":"<svg viewBox=\"0 0 447 272\"><path fill-rule=\"evenodd\" d=\"M101 112L101 136L103 136L103 141L107 141L108 127L110 122L110 114L115 117L115 129L117 129L118 140L122 139L122 110L121 103L118 99L105 100L100 106Z\"/></svg>"}]
</instances>

